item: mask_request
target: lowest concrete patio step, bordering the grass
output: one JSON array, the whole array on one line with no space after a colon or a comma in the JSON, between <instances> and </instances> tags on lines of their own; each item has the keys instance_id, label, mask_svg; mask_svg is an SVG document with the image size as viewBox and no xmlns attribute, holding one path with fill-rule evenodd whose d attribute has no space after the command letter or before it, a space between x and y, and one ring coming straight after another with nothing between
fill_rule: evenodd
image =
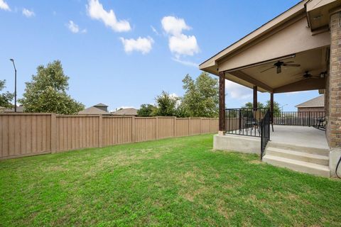
<instances>
[{"instance_id":1,"label":"lowest concrete patio step, bordering the grass","mask_svg":"<svg viewBox=\"0 0 341 227\"><path fill-rule=\"evenodd\" d=\"M271 165L286 167L290 170L295 170L298 172L305 172L311 175L322 177L330 177L329 167L325 165L318 165L315 163L303 162L285 157L277 157L269 154L266 154L263 157L263 161Z\"/></svg>"}]
</instances>

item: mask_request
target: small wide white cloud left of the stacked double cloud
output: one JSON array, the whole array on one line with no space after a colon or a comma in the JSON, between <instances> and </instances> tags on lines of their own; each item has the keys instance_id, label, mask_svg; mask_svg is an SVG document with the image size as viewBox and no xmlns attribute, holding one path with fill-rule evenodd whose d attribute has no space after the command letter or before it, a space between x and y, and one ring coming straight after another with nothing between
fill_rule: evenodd
<instances>
[{"instance_id":1,"label":"small wide white cloud left of the stacked double cloud","mask_svg":"<svg viewBox=\"0 0 341 227\"><path fill-rule=\"evenodd\" d=\"M126 39L120 38L122 44L124 45L125 52L139 51L143 54L146 54L151 51L151 46L154 43L154 40L150 37L147 38L134 38Z\"/></svg>"}]
</instances>

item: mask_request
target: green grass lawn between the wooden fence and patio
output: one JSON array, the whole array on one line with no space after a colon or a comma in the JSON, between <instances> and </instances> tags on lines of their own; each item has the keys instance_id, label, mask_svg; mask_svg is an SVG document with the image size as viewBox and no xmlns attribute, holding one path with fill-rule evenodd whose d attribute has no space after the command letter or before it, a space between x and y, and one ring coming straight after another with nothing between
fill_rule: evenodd
<instances>
[{"instance_id":1,"label":"green grass lawn between the wooden fence and patio","mask_svg":"<svg viewBox=\"0 0 341 227\"><path fill-rule=\"evenodd\" d=\"M0 161L0 226L341 226L341 182L212 135Z\"/></svg>"}]
</instances>

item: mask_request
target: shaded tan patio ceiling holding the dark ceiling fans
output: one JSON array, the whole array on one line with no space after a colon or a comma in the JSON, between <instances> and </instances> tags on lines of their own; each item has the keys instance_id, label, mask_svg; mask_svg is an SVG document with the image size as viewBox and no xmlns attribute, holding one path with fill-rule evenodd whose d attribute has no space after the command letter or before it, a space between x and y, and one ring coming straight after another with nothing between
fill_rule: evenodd
<instances>
[{"instance_id":1,"label":"shaded tan patio ceiling holding the dark ceiling fans","mask_svg":"<svg viewBox=\"0 0 341 227\"><path fill-rule=\"evenodd\" d=\"M225 73L226 79L247 87L256 85L261 92L297 92L312 89L325 89L325 78L320 78L320 73L325 72L327 48L319 48L299 52L296 55L279 59L283 62L292 62L300 67L281 67L281 73L276 73L274 66L277 60L265 62L251 67ZM266 70L265 72L262 72ZM307 72L312 77L305 79Z\"/></svg>"}]
</instances>

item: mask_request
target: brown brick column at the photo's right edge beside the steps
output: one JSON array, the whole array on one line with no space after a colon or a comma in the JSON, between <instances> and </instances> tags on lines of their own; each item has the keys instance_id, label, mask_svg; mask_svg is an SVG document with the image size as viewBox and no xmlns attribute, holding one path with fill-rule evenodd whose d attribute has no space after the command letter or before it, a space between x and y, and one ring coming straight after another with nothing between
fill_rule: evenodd
<instances>
[{"instance_id":1,"label":"brown brick column at the photo's right edge beside the steps","mask_svg":"<svg viewBox=\"0 0 341 227\"><path fill-rule=\"evenodd\" d=\"M341 12L330 15L329 116L330 148L341 148Z\"/></svg>"}]
</instances>

